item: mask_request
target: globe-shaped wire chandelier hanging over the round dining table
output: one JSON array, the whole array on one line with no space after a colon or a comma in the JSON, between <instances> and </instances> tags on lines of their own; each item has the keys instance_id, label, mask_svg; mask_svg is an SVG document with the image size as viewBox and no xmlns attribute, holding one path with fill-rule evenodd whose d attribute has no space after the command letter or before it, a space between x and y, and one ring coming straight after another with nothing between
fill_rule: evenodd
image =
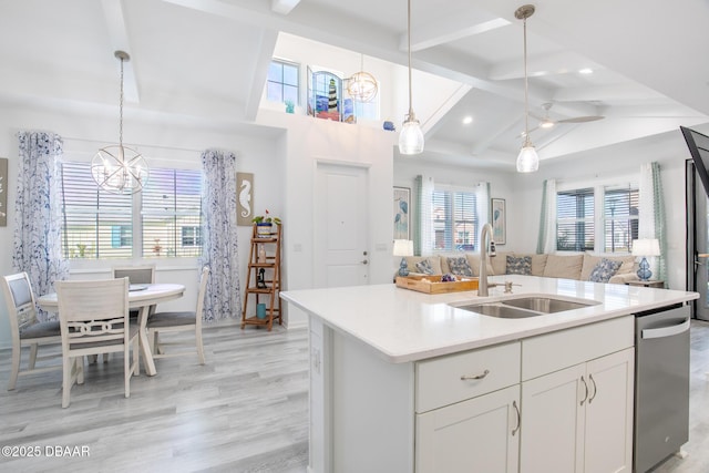
<instances>
[{"instance_id":1,"label":"globe-shaped wire chandelier hanging over the round dining table","mask_svg":"<svg viewBox=\"0 0 709 473\"><path fill-rule=\"evenodd\" d=\"M119 144L99 150L91 161L91 175L99 187L111 194L135 194L147 183L150 171L137 151L123 146L123 62L131 56L124 51L115 51L114 55L121 61Z\"/></svg>"}]
</instances>

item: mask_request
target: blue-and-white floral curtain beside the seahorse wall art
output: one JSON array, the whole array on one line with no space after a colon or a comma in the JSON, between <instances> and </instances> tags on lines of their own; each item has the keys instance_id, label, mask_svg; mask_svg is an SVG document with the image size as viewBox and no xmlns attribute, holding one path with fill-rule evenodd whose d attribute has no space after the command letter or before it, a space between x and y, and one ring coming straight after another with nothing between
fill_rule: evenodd
<instances>
[{"instance_id":1,"label":"blue-and-white floral curtain beside the seahorse wall art","mask_svg":"<svg viewBox=\"0 0 709 473\"><path fill-rule=\"evenodd\" d=\"M204 320L240 317L242 287L236 238L236 155L219 150L202 153L203 251L199 263L210 275Z\"/></svg>"}]
</instances>

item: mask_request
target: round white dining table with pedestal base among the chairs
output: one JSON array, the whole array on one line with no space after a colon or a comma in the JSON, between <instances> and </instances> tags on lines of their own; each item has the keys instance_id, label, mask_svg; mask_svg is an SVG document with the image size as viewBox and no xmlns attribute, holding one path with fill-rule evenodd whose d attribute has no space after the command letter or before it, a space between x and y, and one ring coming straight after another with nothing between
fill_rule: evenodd
<instances>
[{"instance_id":1,"label":"round white dining table with pedestal base among the chairs","mask_svg":"<svg viewBox=\"0 0 709 473\"><path fill-rule=\"evenodd\" d=\"M160 302L166 302L183 297L185 286L179 284L138 284L129 287L129 308L138 309L138 339L145 373L150 377L157 374L153 352L147 339L147 318L150 308ZM48 312L59 311L56 292L45 294L37 299L39 306Z\"/></svg>"}]
</instances>

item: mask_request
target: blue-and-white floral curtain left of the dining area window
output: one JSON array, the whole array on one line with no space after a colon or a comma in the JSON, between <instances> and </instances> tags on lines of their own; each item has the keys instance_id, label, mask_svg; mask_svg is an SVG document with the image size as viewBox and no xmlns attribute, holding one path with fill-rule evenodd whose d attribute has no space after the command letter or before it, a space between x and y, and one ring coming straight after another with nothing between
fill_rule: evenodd
<instances>
[{"instance_id":1,"label":"blue-and-white floral curtain left of the dining area window","mask_svg":"<svg viewBox=\"0 0 709 473\"><path fill-rule=\"evenodd\" d=\"M66 279L69 261L61 251L62 138L54 133L20 132L18 193L12 266L25 271L38 296L53 292ZM40 311L40 319L55 317Z\"/></svg>"}]
</instances>

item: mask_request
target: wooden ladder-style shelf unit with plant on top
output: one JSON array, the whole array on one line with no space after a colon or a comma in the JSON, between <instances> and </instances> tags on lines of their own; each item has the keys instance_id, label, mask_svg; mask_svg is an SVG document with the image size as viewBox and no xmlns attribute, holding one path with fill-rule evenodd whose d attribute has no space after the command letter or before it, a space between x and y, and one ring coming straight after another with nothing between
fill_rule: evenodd
<instances>
[{"instance_id":1,"label":"wooden ladder-style shelf unit with plant on top","mask_svg":"<svg viewBox=\"0 0 709 473\"><path fill-rule=\"evenodd\" d=\"M280 311L280 241L282 236L282 225L274 224L269 235L259 235L257 226L254 225L251 234L251 250L248 263L248 275L246 276L246 292L244 295L244 310L242 311L242 329L246 326L266 326L268 331L278 320L282 325ZM266 250L266 263L258 261L259 246L264 245ZM258 287L258 274L263 270L263 282L266 287ZM266 318L259 319L255 312L247 315L249 299L255 299L255 306L266 304Z\"/></svg>"}]
</instances>

